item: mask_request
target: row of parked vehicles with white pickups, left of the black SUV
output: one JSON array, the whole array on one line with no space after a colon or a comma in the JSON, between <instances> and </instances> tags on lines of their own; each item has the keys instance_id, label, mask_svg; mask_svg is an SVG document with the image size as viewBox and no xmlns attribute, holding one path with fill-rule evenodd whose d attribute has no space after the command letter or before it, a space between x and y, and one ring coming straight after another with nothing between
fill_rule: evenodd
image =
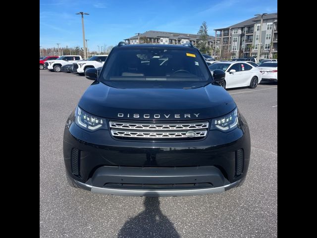
<instances>
[{"instance_id":1,"label":"row of parked vehicles with white pickups, left of the black SUV","mask_svg":"<svg viewBox=\"0 0 317 238\"><path fill-rule=\"evenodd\" d=\"M84 75L85 71L89 68L102 67L106 61L108 55L96 55L88 60L82 60L81 56L61 56L52 60L45 60L43 67L54 72L74 72L80 75Z\"/></svg>"}]
</instances>

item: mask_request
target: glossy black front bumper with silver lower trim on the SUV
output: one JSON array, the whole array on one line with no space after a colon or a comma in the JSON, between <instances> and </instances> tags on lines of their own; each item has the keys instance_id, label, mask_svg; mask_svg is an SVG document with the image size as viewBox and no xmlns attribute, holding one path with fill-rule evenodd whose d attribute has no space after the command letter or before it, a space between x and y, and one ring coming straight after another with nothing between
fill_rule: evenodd
<instances>
[{"instance_id":1,"label":"glossy black front bumper with silver lower trim on the SUV","mask_svg":"<svg viewBox=\"0 0 317 238\"><path fill-rule=\"evenodd\" d=\"M64 130L66 174L78 187L127 196L185 196L222 192L244 181L250 160L245 119L235 130L211 131L203 140L152 142L118 140L108 130L88 132L73 116ZM72 151L76 149L76 173ZM243 151L237 175L237 151Z\"/></svg>"}]
</instances>

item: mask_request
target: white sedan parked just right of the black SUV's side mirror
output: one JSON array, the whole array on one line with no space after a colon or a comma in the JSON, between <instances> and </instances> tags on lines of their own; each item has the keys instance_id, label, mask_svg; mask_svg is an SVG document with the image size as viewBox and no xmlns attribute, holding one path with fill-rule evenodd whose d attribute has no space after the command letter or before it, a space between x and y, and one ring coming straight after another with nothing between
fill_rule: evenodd
<instances>
[{"instance_id":1,"label":"white sedan parked just right of the black SUV's side mirror","mask_svg":"<svg viewBox=\"0 0 317 238\"><path fill-rule=\"evenodd\" d=\"M258 67L246 61L221 61L208 66L211 73L215 69L225 71L225 79L220 83L224 88L245 87L256 88L261 82L262 73Z\"/></svg>"}]
</instances>

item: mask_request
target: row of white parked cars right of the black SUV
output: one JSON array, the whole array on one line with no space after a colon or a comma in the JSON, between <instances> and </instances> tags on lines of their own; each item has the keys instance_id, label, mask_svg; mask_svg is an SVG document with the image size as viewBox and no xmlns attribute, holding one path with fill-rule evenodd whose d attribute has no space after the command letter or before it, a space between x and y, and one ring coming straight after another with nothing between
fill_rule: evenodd
<instances>
[{"instance_id":1,"label":"row of white parked cars right of the black SUV","mask_svg":"<svg viewBox=\"0 0 317 238\"><path fill-rule=\"evenodd\" d=\"M212 74L215 69L225 72L225 79L219 83L223 88L256 88L262 81L277 82L277 61L261 65L252 61L218 61L208 67Z\"/></svg>"}]
</instances>

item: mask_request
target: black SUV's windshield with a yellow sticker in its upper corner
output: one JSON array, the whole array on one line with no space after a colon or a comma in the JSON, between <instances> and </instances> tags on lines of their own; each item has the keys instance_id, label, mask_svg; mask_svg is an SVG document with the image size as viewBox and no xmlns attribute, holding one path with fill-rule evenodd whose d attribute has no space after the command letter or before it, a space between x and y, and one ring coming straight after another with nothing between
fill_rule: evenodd
<instances>
[{"instance_id":1,"label":"black SUV's windshield with a yellow sticker in its upper corner","mask_svg":"<svg viewBox=\"0 0 317 238\"><path fill-rule=\"evenodd\" d=\"M100 80L211 82L211 74L204 58L191 48L116 48Z\"/></svg>"}]
</instances>

